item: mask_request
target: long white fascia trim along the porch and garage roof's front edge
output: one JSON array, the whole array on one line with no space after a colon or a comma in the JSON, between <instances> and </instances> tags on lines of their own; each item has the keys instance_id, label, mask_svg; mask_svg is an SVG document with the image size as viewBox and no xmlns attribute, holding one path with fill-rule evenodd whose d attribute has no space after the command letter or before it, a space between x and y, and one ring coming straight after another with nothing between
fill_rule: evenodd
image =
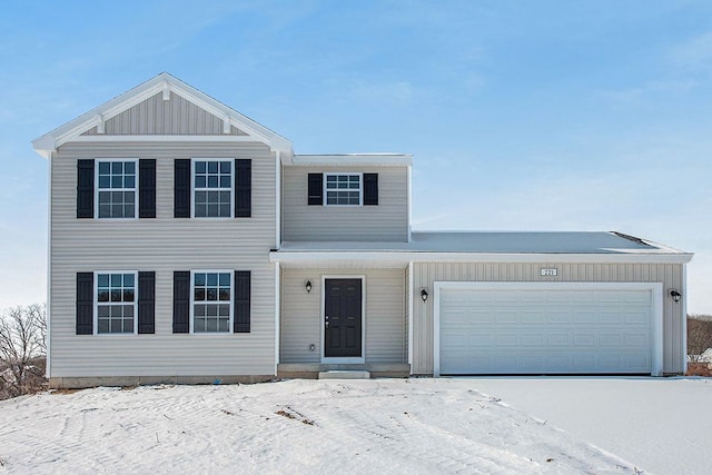
<instances>
[{"instance_id":1,"label":"long white fascia trim along the porch and garage roof's front edge","mask_svg":"<svg viewBox=\"0 0 712 475\"><path fill-rule=\"evenodd\" d=\"M491 254L491 253L432 253L432 251L270 251L271 263L308 264L329 260L352 261L436 261L436 263L611 263L611 264L686 264L691 253L676 254Z\"/></svg>"}]
</instances>

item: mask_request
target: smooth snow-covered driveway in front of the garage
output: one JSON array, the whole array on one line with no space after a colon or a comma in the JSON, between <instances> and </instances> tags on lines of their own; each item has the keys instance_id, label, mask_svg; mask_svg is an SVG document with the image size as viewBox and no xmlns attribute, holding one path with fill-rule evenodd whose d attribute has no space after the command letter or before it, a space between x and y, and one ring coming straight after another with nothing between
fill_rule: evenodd
<instances>
[{"instance_id":1,"label":"smooth snow-covered driveway in front of the garage","mask_svg":"<svg viewBox=\"0 0 712 475\"><path fill-rule=\"evenodd\" d=\"M645 474L712 473L712 379L459 380L634 463Z\"/></svg>"}]
</instances>

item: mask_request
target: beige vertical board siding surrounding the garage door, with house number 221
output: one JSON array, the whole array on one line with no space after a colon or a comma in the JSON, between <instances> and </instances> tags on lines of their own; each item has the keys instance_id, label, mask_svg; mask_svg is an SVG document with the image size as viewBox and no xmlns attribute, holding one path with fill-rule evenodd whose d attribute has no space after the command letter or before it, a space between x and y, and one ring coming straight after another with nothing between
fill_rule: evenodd
<instances>
[{"instance_id":1,"label":"beige vertical board siding surrounding the garage door, with house number 221","mask_svg":"<svg viewBox=\"0 0 712 475\"><path fill-rule=\"evenodd\" d=\"M541 277L540 269L556 268L556 277ZM684 367L683 306L666 296L676 288L683 294L682 264L575 264L575 263L414 263L413 288L427 289L434 297L435 281L542 281L542 283L662 283L663 372L682 373ZM413 303L413 374L433 374L434 298Z\"/></svg>"}]
</instances>

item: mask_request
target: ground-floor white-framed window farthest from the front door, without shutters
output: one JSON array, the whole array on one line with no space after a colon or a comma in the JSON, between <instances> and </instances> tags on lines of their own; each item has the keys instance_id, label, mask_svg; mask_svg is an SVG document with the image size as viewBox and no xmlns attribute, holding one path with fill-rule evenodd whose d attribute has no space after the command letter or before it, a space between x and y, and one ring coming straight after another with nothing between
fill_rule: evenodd
<instances>
[{"instance_id":1,"label":"ground-floor white-framed window farthest from the front door, without shutters","mask_svg":"<svg viewBox=\"0 0 712 475\"><path fill-rule=\"evenodd\" d=\"M97 334L135 334L136 273L97 273Z\"/></svg>"}]
</instances>

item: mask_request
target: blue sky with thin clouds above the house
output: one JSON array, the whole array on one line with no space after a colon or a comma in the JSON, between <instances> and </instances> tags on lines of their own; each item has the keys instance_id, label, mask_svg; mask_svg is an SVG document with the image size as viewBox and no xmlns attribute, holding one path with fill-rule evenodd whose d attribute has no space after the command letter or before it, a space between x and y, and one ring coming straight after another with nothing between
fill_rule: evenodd
<instances>
[{"instance_id":1,"label":"blue sky with thin clouds above the house","mask_svg":"<svg viewBox=\"0 0 712 475\"><path fill-rule=\"evenodd\" d=\"M44 300L30 141L161 71L300 154L414 155L419 229L620 230L694 251L712 314L709 1L13 1L0 308Z\"/></svg>"}]
</instances>

